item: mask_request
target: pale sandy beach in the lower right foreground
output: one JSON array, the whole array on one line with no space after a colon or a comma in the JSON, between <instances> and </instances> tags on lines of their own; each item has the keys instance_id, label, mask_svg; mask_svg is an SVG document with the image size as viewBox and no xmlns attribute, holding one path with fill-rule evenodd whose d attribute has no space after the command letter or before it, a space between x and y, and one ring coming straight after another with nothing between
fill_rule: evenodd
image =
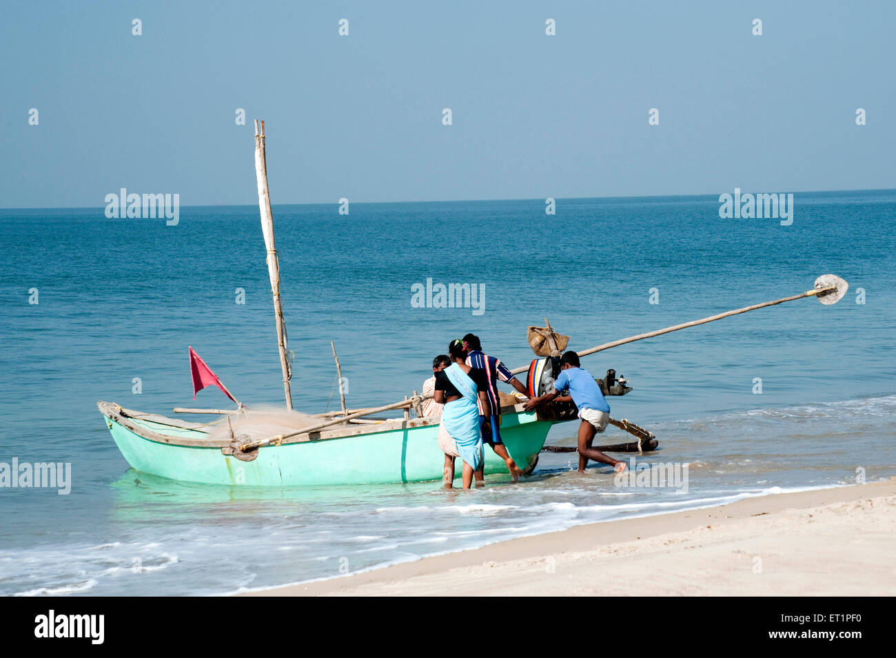
<instances>
[{"instance_id":1,"label":"pale sandy beach in the lower right foreground","mask_svg":"<svg viewBox=\"0 0 896 658\"><path fill-rule=\"evenodd\" d=\"M892 595L896 480L573 527L255 596Z\"/></svg>"}]
</instances>

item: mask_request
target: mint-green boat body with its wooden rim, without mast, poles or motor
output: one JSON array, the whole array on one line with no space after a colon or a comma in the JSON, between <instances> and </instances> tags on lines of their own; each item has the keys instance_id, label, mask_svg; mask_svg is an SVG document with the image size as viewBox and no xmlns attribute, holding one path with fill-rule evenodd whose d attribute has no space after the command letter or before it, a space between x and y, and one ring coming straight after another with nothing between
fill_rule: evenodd
<instances>
[{"instance_id":1,"label":"mint-green boat body with its wooden rim, without mast, poles or motor","mask_svg":"<svg viewBox=\"0 0 896 658\"><path fill-rule=\"evenodd\" d=\"M179 481L259 487L316 487L440 480L437 419L396 418L372 425L339 425L240 451L214 438L214 424L185 422L100 402L109 431L127 463L141 472ZM521 467L534 468L552 422L522 405L505 407L504 445ZM238 443L238 442L237 442ZM236 455L234 454L236 452ZM461 474L457 461L456 477ZM507 467L486 450L486 474Z\"/></svg>"}]
</instances>

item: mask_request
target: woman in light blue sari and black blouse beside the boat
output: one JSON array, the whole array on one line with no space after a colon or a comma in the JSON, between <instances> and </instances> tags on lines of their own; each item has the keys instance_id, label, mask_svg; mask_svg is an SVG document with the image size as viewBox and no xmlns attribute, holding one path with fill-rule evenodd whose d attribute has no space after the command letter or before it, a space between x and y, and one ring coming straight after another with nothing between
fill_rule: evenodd
<instances>
[{"instance_id":1,"label":"woman in light blue sari and black blouse beside the boat","mask_svg":"<svg viewBox=\"0 0 896 658\"><path fill-rule=\"evenodd\" d=\"M444 403L442 424L454 439L457 452L463 459L463 488L470 489L473 476L476 486L484 486L482 467L485 453L482 449L482 431L479 429L479 408L490 410L485 370L467 365L467 343L452 341L448 346L453 363L435 374L436 403ZM450 473L449 473L450 471ZM454 479L454 458L445 455L445 486L451 487Z\"/></svg>"}]
</instances>

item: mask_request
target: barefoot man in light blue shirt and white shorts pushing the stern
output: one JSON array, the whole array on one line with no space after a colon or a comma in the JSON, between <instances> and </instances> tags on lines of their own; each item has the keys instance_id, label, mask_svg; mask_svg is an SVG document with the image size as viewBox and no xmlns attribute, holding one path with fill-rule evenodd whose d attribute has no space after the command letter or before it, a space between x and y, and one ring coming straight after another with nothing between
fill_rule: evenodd
<instances>
[{"instance_id":1,"label":"barefoot man in light blue shirt and white shorts pushing the stern","mask_svg":"<svg viewBox=\"0 0 896 658\"><path fill-rule=\"evenodd\" d=\"M526 411L535 409L540 403L547 403L555 398L557 400L572 400L579 409L579 418L582 424L579 426L579 472L585 470L588 460L608 463L618 472L625 471L625 462L620 462L613 457L592 448L594 435L607 429L610 420L610 405L600 393L600 386L588 370L579 368L579 355L574 351L564 352L560 358L562 372L554 382L554 388L544 395L530 398L524 403ZM569 389L569 395L557 397L561 391Z\"/></svg>"}]
</instances>

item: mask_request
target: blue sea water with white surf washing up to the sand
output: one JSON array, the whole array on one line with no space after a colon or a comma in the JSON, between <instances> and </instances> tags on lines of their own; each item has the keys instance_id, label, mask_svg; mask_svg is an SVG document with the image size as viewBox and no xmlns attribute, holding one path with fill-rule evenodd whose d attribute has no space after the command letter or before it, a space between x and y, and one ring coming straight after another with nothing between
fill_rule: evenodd
<instances>
[{"instance_id":1,"label":"blue sea water with white surf washing up to the sand","mask_svg":"<svg viewBox=\"0 0 896 658\"><path fill-rule=\"evenodd\" d=\"M850 289L832 307L801 299L583 359L631 381L613 415L657 434L661 449L640 459L691 464L686 494L615 488L607 469L572 472L564 454L542 455L521 484L496 476L473 492L209 487L130 470L95 403L169 415L226 404L216 389L193 402L188 345L241 400L281 403L257 207L182 208L177 226L101 208L0 211L0 463L73 473L67 496L0 488L0 593L226 593L896 475L896 191L797 194L788 227L719 219L715 196L544 208L275 205L297 409L339 405L330 340L349 406L366 406L419 390L435 354L470 331L513 367L532 359L526 327L545 316L581 350L797 294L822 273ZM483 313L413 307L427 279L482 284ZM557 426L548 443L574 432Z\"/></svg>"}]
</instances>

